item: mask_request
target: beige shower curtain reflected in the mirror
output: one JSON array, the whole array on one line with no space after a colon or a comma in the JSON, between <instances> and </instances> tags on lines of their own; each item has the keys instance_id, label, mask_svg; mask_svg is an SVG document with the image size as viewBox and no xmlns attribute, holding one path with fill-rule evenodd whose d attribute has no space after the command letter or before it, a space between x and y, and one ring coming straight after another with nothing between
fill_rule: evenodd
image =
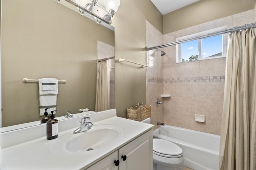
<instances>
[{"instance_id":1,"label":"beige shower curtain reflected in the mirror","mask_svg":"<svg viewBox=\"0 0 256 170\"><path fill-rule=\"evenodd\" d=\"M109 66L108 62L98 62L97 67L97 84L96 84L96 102L95 111L103 111L109 109Z\"/></svg>"}]
</instances>

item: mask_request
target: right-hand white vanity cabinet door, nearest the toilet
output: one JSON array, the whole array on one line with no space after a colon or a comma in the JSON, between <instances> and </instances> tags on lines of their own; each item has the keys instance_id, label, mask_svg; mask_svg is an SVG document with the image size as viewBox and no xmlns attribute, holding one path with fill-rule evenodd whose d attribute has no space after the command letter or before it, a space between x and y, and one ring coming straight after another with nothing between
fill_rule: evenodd
<instances>
[{"instance_id":1,"label":"right-hand white vanity cabinet door, nearest the toilet","mask_svg":"<svg viewBox=\"0 0 256 170\"><path fill-rule=\"evenodd\" d=\"M153 169L153 130L119 149L119 170Z\"/></svg>"}]
</instances>

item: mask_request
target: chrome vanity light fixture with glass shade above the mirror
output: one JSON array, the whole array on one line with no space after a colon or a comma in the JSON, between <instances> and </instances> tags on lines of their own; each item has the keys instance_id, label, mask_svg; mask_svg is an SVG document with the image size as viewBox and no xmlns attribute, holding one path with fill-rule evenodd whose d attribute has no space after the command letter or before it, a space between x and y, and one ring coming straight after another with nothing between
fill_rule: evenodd
<instances>
[{"instance_id":1,"label":"chrome vanity light fixture with glass shade above the mirror","mask_svg":"<svg viewBox=\"0 0 256 170\"><path fill-rule=\"evenodd\" d=\"M57 3L60 0L55 0ZM84 12L94 16L96 22L111 23L112 17L120 6L120 0L65 0L78 8L79 14Z\"/></svg>"}]
</instances>

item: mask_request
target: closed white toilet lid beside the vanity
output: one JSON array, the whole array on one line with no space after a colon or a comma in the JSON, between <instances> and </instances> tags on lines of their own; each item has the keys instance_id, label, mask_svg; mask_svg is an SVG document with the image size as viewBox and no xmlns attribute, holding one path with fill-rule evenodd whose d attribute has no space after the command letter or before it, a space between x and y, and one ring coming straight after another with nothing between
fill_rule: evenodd
<instances>
[{"instance_id":1,"label":"closed white toilet lid beside the vanity","mask_svg":"<svg viewBox=\"0 0 256 170\"><path fill-rule=\"evenodd\" d=\"M183 155L182 149L178 145L164 139L153 139L153 153L170 158L178 158Z\"/></svg>"}]
</instances>

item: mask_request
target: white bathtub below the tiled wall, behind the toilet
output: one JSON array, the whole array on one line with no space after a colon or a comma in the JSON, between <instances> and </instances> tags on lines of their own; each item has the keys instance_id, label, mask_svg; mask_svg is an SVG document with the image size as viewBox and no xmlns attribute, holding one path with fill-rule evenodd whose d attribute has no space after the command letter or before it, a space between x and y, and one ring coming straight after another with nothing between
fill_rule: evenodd
<instances>
[{"instance_id":1,"label":"white bathtub below the tiled wall, behind the toilet","mask_svg":"<svg viewBox=\"0 0 256 170\"><path fill-rule=\"evenodd\" d=\"M170 125L159 127L153 135L180 146L185 156L184 166L194 170L219 169L219 135Z\"/></svg>"}]
</instances>

